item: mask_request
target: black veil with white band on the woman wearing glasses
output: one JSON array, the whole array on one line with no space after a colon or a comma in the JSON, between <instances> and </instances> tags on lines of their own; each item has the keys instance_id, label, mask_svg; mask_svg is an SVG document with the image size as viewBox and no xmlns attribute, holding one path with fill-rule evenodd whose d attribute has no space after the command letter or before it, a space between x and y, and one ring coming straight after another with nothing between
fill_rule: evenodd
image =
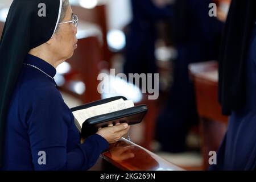
<instances>
[{"instance_id":1,"label":"black veil with white band on the woman wearing glasses","mask_svg":"<svg viewBox=\"0 0 256 182\"><path fill-rule=\"evenodd\" d=\"M62 0L14 0L0 42L0 167L6 115L22 63L30 49L51 39Z\"/></svg>"}]
</instances>

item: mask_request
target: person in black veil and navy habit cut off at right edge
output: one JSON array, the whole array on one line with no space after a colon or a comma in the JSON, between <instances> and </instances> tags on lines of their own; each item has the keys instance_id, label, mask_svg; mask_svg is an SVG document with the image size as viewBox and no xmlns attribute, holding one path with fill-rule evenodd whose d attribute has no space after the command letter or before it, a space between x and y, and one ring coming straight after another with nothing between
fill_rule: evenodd
<instances>
[{"instance_id":1,"label":"person in black veil and navy habit cut off at right edge","mask_svg":"<svg viewBox=\"0 0 256 182\"><path fill-rule=\"evenodd\" d=\"M256 1L233 0L219 60L219 100L230 115L215 170L256 169Z\"/></svg>"}]
</instances>

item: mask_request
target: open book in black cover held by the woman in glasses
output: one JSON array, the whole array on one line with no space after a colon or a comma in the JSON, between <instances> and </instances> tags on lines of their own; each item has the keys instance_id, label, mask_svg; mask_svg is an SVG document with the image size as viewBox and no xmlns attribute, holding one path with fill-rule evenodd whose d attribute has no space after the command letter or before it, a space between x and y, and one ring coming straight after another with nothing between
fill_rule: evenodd
<instances>
[{"instance_id":1,"label":"open book in black cover held by the woman in glasses","mask_svg":"<svg viewBox=\"0 0 256 182\"><path fill-rule=\"evenodd\" d=\"M98 127L127 122L134 125L142 121L147 112L146 105L134 106L125 97L112 97L71 109L77 129L83 137L96 133Z\"/></svg>"}]
</instances>

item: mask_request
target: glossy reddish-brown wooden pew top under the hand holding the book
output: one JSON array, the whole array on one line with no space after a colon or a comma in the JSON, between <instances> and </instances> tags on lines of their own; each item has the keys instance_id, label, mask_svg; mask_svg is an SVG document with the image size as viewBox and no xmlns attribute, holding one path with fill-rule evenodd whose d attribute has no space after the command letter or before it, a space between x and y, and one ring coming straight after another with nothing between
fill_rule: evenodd
<instances>
[{"instance_id":1,"label":"glossy reddish-brown wooden pew top under the hand holding the book","mask_svg":"<svg viewBox=\"0 0 256 182\"><path fill-rule=\"evenodd\" d=\"M125 171L183 171L184 169L160 158L158 155L122 138L110 144L90 170Z\"/></svg>"}]
</instances>

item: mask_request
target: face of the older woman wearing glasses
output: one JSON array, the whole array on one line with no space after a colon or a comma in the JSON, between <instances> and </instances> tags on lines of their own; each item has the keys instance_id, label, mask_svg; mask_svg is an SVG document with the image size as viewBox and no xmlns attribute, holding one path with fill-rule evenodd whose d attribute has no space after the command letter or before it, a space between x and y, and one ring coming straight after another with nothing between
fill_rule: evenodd
<instances>
[{"instance_id":1,"label":"face of the older woman wearing glasses","mask_svg":"<svg viewBox=\"0 0 256 182\"><path fill-rule=\"evenodd\" d=\"M62 22L72 20L72 16L72 9L71 6L69 6ZM75 27L73 23L64 23L59 25L59 28L54 35L53 49L61 59L66 60L73 56L73 53L77 48L76 34L77 27Z\"/></svg>"}]
</instances>

